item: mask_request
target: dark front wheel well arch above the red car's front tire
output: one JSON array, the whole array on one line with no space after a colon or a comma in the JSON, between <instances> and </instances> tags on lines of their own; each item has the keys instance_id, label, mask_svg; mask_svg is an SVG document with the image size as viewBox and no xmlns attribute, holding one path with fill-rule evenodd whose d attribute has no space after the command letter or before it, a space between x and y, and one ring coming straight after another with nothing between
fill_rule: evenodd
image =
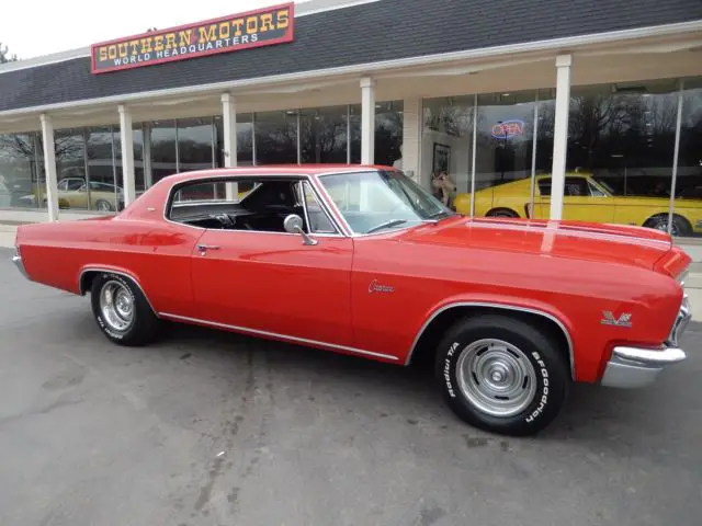
<instances>
[{"instance_id":1,"label":"dark front wheel well arch above the red car's front tire","mask_svg":"<svg viewBox=\"0 0 702 526\"><path fill-rule=\"evenodd\" d=\"M571 343L565 328L561 327L551 318L536 312L487 306L457 306L439 313L439 316L431 320L429 325L424 328L421 336L419 336L414 353L410 356L409 364L429 365L437 352L437 344L439 340L441 340L451 325L461 319L478 315L501 315L522 320L547 333L556 341L558 351L561 351L563 358L566 361L566 364L568 364L568 367L570 367L573 375L573 363L570 359Z\"/></svg>"}]
</instances>

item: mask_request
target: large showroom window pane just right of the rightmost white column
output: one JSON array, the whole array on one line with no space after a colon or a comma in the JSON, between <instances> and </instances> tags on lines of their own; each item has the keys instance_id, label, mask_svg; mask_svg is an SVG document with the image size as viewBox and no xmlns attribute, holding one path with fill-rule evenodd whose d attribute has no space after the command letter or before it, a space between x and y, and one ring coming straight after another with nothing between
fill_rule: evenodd
<instances>
[{"instance_id":1,"label":"large showroom window pane just right of the rightmost white column","mask_svg":"<svg viewBox=\"0 0 702 526\"><path fill-rule=\"evenodd\" d=\"M678 82L574 87L564 219L667 230ZM586 195L576 182L588 182ZM547 198L542 199L546 213Z\"/></svg>"}]
</instances>

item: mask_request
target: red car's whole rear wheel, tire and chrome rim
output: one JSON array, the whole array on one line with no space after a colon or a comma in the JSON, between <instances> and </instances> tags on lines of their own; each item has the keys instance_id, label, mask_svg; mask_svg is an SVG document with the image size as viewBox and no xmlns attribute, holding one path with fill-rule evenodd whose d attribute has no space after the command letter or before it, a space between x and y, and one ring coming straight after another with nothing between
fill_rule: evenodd
<instances>
[{"instance_id":1,"label":"red car's whole rear wheel, tire and chrome rim","mask_svg":"<svg viewBox=\"0 0 702 526\"><path fill-rule=\"evenodd\" d=\"M90 302L98 327L114 343L146 345L158 334L159 320L131 278L100 273L92 281Z\"/></svg>"}]
</instances>

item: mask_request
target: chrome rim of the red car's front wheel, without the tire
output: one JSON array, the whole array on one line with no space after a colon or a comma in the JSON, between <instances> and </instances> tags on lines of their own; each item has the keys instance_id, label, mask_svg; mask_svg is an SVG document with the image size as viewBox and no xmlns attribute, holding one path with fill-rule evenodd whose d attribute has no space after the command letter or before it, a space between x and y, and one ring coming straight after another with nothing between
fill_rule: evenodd
<instances>
[{"instance_id":1,"label":"chrome rim of the red car's front wheel, without the tire","mask_svg":"<svg viewBox=\"0 0 702 526\"><path fill-rule=\"evenodd\" d=\"M536 370L526 354L511 343L478 340L461 352L458 387L479 411L490 416L519 414L536 395Z\"/></svg>"}]
</instances>

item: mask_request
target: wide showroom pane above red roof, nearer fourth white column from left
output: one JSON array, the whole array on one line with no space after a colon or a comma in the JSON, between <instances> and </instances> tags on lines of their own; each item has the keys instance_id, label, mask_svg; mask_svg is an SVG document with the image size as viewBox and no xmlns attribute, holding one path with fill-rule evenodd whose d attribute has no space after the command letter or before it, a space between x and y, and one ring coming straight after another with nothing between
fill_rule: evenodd
<instances>
[{"instance_id":1,"label":"wide showroom pane above red roof, nearer fourth white column from left","mask_svg":"<svg viewBox=\"0 0 702 526\"><path fill-rule=\"evenodd\" d=\"M299 151L303 163L347 163L347 106L299 111Z\"/></svg>"}]
</instances>

